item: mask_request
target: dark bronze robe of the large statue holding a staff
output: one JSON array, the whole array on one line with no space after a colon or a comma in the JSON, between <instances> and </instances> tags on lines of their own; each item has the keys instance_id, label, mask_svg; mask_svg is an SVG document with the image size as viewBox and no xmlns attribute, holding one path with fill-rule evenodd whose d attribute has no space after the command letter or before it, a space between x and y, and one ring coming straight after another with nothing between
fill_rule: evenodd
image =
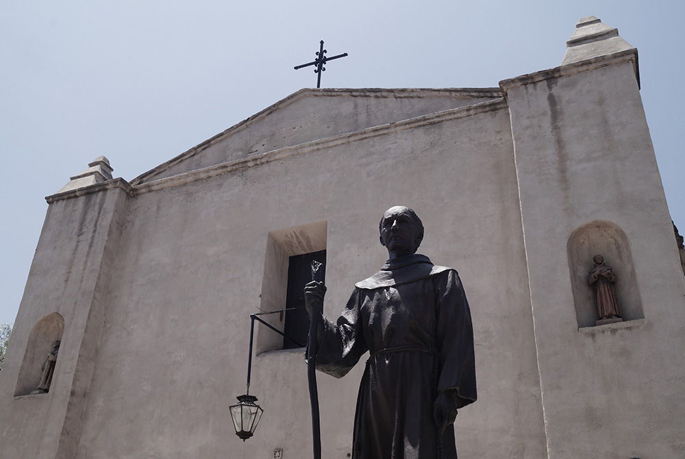
<instances>
[{"instance_id":1,"label":"dark bronze robe of the large statue holding a staff","mask_svg":"<svg viewBox=\"0 0 685 459\"><path fill-rule=\"evenodd\" d=\"M356 284L337 325L324 321L316 369L342 377L369 351L359 388L354 459L455 459L453 425L438 432L438 391L476 399L471 312L456 271L422 255L389 260Z\"/></svg>"}]
</instances>

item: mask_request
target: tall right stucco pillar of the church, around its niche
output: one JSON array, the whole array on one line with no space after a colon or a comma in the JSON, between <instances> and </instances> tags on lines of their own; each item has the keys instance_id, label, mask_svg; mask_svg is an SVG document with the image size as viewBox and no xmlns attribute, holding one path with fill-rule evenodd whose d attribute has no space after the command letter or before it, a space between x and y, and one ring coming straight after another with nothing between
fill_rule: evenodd
<instances>
[{"instance_id":1,"label":"tall right stucco pillar of the church, around its niche","mask_svg":"<svg viewBox=\"0 0 685 459\"><path fill-rule=\"evenodd\" d=\"M685 457L685 288L635 59L625 51L502 84L549 458ZM625 232L644 319L579 330L566 245L593 221Z\"/></svg>"}]
</instances>

